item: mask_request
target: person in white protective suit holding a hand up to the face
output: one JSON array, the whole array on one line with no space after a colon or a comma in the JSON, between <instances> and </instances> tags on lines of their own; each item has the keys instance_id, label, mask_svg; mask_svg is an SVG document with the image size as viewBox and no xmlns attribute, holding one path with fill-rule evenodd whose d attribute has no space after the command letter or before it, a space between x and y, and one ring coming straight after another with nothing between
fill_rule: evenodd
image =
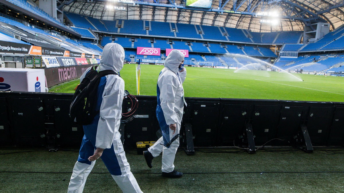
<instances>
[{"instance_id":1,"label":"person in white protective suit holding a hand up to the face","mask_svg":"<svg viewBox=\"0 0 344 193\"><path fill-rule=\"evenodd\" d=\"M186 69L182 67L183 62L184 55L179 50L172 50L165 60L165 68L160 72L157 83L156 114L162 137L143 152L149 168L152 168L152 159L162 152L162 176L168 178L179 178L183 175L182 172L174 170L173 164L179 147L179 131L185 103L183 82Z\"/></svg>"}]
</instances>

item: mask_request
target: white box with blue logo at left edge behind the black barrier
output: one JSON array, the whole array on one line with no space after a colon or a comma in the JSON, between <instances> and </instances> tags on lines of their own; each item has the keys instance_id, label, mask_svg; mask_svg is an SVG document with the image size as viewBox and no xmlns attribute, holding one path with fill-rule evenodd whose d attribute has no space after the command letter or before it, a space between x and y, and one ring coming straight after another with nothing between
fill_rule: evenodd
<instances>
[{"instance_id":1,"label":"white box with blue logo at left edge behind the black barrier","mask_svg":"<svg viewBox=\"0 0 344 193\"><path fill-rule=\"evenodd\" d=\"M1 68L0 91L45 92L44 70Z\"/></svg>"}]
</instances>

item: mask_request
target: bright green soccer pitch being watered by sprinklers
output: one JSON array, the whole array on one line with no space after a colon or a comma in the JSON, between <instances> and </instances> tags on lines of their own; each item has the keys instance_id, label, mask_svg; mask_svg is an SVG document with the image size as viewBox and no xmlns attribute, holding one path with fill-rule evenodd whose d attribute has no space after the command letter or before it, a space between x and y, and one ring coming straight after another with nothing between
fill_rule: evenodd
<instances>
[{"instance_id":1,"label":"bright green soccer pitch being watered by sprinklers","mask_svg":"<svg viewBox=\"0 0 344 193\"><path fill-rule=\"evenodd\" d=\"M140 94L156 95L163 66L141 65ZM297 101L344 101L344 78L259 70L186 67L186 97L278 99ZM125 64L120 72L125 89L137 94L136 65ZM300 81L302 79L303 81ZM79 80L54 86L50 92L74 93Z\"/></svg>"}]
</instances>

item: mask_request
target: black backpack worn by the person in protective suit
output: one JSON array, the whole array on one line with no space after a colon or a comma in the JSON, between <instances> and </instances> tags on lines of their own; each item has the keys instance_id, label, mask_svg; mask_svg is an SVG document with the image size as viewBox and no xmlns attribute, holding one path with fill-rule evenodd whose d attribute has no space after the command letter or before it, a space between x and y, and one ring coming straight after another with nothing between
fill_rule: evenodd
<instances>
[{"instance_id":1,"label":"black backpack worn by the person in protective suit","mask_svg":"<svg viewBox=\"0 0 344 193\"><path fill-rule=\"evenodd\" d=\"M118 75L113 70L97 71L99 65L94 65L85 78L77 86L69 108L69 117L80 125L89 125L99 113L95 110L97 103L97 90L100 78L105 75Z\"/></svg>"}]
</instances>

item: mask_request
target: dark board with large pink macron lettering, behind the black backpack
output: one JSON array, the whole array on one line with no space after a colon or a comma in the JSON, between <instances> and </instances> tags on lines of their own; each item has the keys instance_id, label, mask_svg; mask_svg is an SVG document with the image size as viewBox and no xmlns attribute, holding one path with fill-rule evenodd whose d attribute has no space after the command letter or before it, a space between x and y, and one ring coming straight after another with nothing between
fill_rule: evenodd
<instances>
[{"instance_id":1,"label":"dark board with large pink macron lettering, behind the black backpack","mask_svg":"<svg viewBox=\"0 0 344 193\"><path fill-rule=\"evenodd\" d=\"M92 65L65 66L45 68L47 87L79 78Z\"/></svg>"}]
</instances>

